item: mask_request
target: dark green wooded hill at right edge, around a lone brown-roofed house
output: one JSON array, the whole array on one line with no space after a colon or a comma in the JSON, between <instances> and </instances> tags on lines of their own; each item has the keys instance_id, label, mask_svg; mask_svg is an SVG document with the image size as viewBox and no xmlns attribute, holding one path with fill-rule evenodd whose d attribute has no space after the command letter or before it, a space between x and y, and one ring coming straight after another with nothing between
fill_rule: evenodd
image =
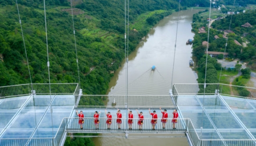
<instances>
[{"instance_id":1,"label":"dark green wooded hill at right edge, around a lone brown-roofed house","mask_svg":"<svg viewBox=\"0 0 256 146\"><path fill-rule=\"evenodd\" d=\"M227 16L224 19L220 19L214 22L212 27L215 29L229 30L230 18L231 16ZM242 27L245 23L249 23L251 26ZM235 53L234 57L238 57L241 60L253 61L256 56L256 10L233 15L230 30L234 32L229 35L230 41L237 39L241 44L246 42L247 47L230 47L228 45L228 52L230 52L230 54ZM252 62L250 64L252 64Z\"/></svg>"}]
</instances>

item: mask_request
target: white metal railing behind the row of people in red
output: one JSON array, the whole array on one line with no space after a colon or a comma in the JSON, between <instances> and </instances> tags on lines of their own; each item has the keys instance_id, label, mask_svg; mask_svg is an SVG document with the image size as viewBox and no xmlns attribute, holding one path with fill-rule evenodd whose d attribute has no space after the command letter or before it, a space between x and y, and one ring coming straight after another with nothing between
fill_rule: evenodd
<instances>
[{"instance_id":1,"label":"white metal railing behind the row of people in red","mask_svg":"<svg viewBox=\"0 0 256 146\"><path fill-rule=\"evenodd\" d=\"M128 104L126 104L128 101ZM170 95L82 95L78 107L175 107Z\"/></svg>"}]
</instances>

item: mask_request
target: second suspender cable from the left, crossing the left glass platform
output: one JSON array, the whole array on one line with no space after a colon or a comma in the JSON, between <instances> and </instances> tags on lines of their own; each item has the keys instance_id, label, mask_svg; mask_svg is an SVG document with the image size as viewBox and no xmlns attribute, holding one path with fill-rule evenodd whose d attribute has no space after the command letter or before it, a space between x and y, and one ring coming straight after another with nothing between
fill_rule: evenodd
<instances>
[{"instance_id":1,"label":"second suspender cable from the left, crossing the left glass platform","mask_svg":"<svg viewBox=\"0 0 256 146\"><path fill-rule=\"evenodd\" d=\"M46 24L46 1L44 0L44 11L45 11L45 24ZM48 53L48 40L47 40L47 25L46 25L46 49L47 49L47 67L48 67L48 76L49 76L49 92L50 92L50 101L52 101L52 96L51 96L51 80L50 80L50 62L49 62L49 53ZM51 117L52 117L52 135L54 138L54 133L53 133L53 109L52 109L52 104L51 106Z\"/></svg>"}]
</instances>

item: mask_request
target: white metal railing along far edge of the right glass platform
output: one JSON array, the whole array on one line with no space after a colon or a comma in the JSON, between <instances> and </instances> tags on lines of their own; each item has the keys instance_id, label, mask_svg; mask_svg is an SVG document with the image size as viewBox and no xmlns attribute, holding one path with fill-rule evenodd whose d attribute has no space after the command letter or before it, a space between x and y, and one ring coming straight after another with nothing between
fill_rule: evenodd
<instances>
[{"instance_id":1,"label":"white metal railing along far edge of the right glass platform","mask_svg":"<svg viewBox=\"0 0 256 146\"><path fill-rule=\"evenodd\" d=\"M174 90L175 89L175 90ZM175 92L174 92L175 91ZM178 84L173 87L174 94L179 95L227 95L233 97L256 97L256 88L242 87L227 84L206 84L204 93L204 84Z\"/></svg>"}]
</instances>

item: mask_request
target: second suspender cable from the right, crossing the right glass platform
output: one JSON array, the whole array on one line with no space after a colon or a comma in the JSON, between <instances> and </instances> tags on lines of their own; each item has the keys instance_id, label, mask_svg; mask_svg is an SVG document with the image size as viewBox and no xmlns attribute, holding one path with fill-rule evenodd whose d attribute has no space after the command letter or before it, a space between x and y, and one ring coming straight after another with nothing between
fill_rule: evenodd
<instances>
[{"instance_id":1,"label":"second suspender cable from the right, crossing the right glass platform","mask_svg":"<svg viewBox=\"0 0 256 146\"><path fill-rule=\"evenodd\" d=\"M211 0L210 0L210 12L211 12ZM205 88L206 88L206 73L207 73L207 60L208 60L208 48L209 48L209 34L210 34L210 14L209 14L209 24L208 24L208 38L207 38L207 48L206 48L206 63L205 63L205 75L204 75L204 85L203 85L203 101L202 106L204 106ZM202 123L201 123L201 137L202 137L202 126L203 126L203 109L202 107Z\"/></svg>"}]
</instances>

